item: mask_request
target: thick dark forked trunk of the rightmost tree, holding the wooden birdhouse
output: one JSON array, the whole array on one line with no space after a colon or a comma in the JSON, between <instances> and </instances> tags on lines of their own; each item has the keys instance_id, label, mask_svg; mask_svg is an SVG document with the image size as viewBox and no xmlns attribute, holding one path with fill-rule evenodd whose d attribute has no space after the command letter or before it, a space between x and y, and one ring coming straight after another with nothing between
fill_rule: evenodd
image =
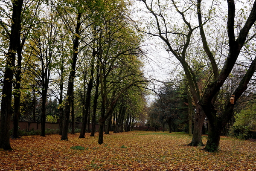
<instances>
[{"instance_id":1,"label":"thick dark forked trunk of the rightmost tree, holding the wooden birdhouse","mask_svg":"<svg viewBox=\"0 0 256 171\"><path fill-rule=\"evenodd\" d=\"M200 22L201 18L201 9L200 9L201 0L198 0L198 18ZM227 56L227 60L218 75L212 84L209 84L207 89L205 90L204 96L199 101L199 104L203 107L204 112L209 120L209 134L208 134L208 141L205 147L206 151L213 152L218 150L218 145L220 141L221 130L224 126L229 122L231 117L233 116L233 108L234 104L227 103L226 108L222 116L217 116L217 111L213 106L213 99L218 94L218 91L226 81L228 75L232 71L236 60L239 56L241 48L244 45L244 42L247 38L248 32L250 28L256 21L256 1L254 1L252 10L247 18L246 23L244 24L243 28L241 29L238 38L235 38L234 33L234 18L235 18L235 2L234 0L227 0L228 3L228 20L227 20L227 32L229 36L229 54ZM204 41L204 38L202 38ZM205 50L207 51L207 50ZM242 93L247 89L247 84L250 81L250 78L254 74L256 70L256 59L253 60L249 69L247 70L246 74L242 78L239 86L234 92L235 95L235 102Z\"/></svg>"}]
</instances>

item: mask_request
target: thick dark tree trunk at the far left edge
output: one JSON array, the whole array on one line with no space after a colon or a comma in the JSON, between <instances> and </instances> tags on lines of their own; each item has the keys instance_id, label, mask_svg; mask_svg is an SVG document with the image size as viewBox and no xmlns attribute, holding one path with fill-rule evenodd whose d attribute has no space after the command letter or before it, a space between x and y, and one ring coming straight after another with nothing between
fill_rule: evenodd
<instances>
[{"instance_id":1,"label":"thick dark tree trunk at the far left edge","mask_svg":"<svg viewBox=\"0 0 256 171\"><path fill-rule=\"evenodd\" d=\"M1 124L0 124L0 148L12 150L10 145L10 121L12 116L12 79L15 67L15 53L20 43L20 16L23 0L12 1L12 26L10 33L9 49L6 54L6 68L3 80L3 91L1 100Z\"/></svg>"}]
</instances>

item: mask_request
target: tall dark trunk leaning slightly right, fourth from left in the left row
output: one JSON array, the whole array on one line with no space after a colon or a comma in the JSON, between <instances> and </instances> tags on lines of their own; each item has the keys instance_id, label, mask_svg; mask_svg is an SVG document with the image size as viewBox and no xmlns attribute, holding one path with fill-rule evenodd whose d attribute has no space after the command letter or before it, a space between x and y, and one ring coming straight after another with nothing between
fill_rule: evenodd
<instances>
[{"instance_id":1,"label":"tall dark trunk leaning slightly right, fourth from left in the left row","mask_svg":"<svg viewBox=\"0 0 256 171\"><path fill-rule=\"evenodd\" d=\"M76 34L79 35L79 29L81 26L80 23L81 13L79 12L77 15L77 22L76 22ZM74 89L74 78L76 73L76 60L77 60L77 49L79 46L79 36L76 36L74 44L73 44L73 60L72 60L72 68L70 71L70 75L68 78L68 87L67 87L67 99L65 102L64 108L64 122L61 134L61 140L68 140L67 133L68 133L68 124L69 124L69 117L70 117L70 103L71 103L71 96L72 91Z\"/></svg>"}]
</instances>

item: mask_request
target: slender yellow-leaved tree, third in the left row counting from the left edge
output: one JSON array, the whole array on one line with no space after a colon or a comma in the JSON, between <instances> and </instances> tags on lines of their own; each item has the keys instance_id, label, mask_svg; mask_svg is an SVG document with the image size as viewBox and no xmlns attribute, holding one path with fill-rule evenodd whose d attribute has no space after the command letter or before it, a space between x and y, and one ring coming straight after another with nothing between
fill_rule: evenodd
<instances>
[{"instance_id":1,"label":"slender yellow-leaved tree, third in the left row counting from the left edge","mask_svg":"<svg viewBox=\"0 0 256 171\"><path fill-rule=\"evenodd\" d=\"M29 48L31 49L32 61L30 64L32 66L31 75L34 75L35 81L38 81L40 88L38 87L38 92L41 94L42 98L42 112L41 112L41 136L45 136L45 109L47 102L47 94L49 89L50 75L52 72L52 61L56 56L56 44L58 37L58 27L54 24L55 18L53 14L47 14L46 23L41 25L38 24L38 28L41 31L33 31L31 36L31 41L29 41ZM47 23L48 22L48 23Z\"/></svg>"}]
</instances>

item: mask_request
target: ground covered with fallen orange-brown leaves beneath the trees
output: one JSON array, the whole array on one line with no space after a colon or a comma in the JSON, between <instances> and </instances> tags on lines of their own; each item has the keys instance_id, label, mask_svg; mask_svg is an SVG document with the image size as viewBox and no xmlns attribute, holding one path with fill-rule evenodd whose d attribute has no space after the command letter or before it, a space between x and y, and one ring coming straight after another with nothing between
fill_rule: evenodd
<instances>
[{"instance_id":1,"label":"ground covered with fallen orange-brown leaves beneath the trees","mask_svg":"<svg viewBox=\"0 0 256 171\"><path fill-rule=\"evenodd\" d=\"M61 136L23 136L11 139L14 151L0 150L3 171L256 171L256 142L221 137L220 150L186 146L182 133L131 131L78 139ZM204 143L207 137L203 136Z\"/></svg>"}]
</instances>

